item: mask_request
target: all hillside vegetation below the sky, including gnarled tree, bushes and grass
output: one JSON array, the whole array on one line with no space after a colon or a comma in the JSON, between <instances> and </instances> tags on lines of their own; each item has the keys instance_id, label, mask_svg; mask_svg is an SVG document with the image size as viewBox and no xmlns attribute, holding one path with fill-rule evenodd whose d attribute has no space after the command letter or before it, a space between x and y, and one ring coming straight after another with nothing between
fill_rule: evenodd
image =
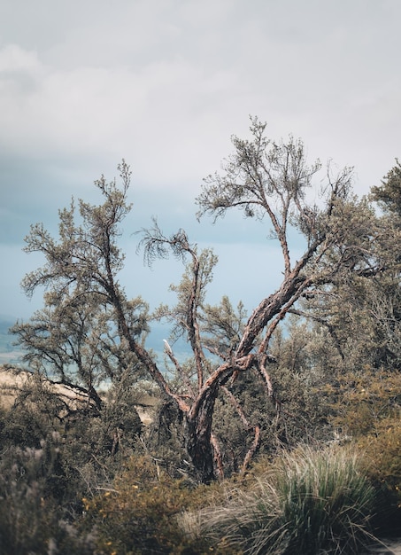
<instances>
[{"instance_id":1,"label":"all hillside vegetation below the sky, including gnarled tree, bushes and grass","mask_svg":"<svg viewBox=\"0 0 401 555\"><path fill-rule=\"evenodd\" d=\"M0 372L4 555L364 553L399 532L401 167L359 199L349 169L320 176L265 130L252 118L197 198L198 217L240 209L277 241L281 284L251 315L208 304L216 256L157 221L139 249L183 262L176 303L127 298L124 160L120 184L96 181L102 204L59 211L58 238L32 225L45 262L22 286L43 308L12 326L23 356Z\"/></svg>"}]
</instances>

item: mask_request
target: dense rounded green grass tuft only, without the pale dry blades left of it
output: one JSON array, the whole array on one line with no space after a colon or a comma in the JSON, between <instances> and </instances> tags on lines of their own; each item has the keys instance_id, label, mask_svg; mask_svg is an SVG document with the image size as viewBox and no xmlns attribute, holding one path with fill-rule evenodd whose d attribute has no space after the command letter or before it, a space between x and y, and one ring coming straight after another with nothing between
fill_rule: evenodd
<instances>
[{"instance_id":1,"label":"dense rounded green grass tuft only, without the pale dry blades left of it","mask_svg":"<svg viewBox=\"0 0 401 555\"><path fill-rule=\"evenodd\" d=\"M356 553L370 539L375 492L359 472L356 451L297 450L282 459L274 479L290 548Z\"/></svg>"}]
</instances>

